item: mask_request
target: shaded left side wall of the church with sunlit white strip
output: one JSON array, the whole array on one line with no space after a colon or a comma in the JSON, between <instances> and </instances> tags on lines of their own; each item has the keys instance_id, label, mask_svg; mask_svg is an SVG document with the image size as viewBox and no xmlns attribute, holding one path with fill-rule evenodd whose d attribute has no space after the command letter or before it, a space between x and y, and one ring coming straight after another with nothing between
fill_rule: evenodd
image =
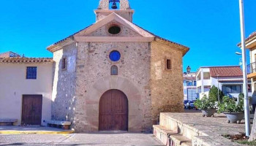
<instances>
[{"instance_id":1,"label":"shaded left side wall of the church with sunlit white strip","mask_svg":"<svg viewBox=\"0 0 256 146\"><path fill-rule=\"evenodd\" d=\"M53 53L53 120L73 120L75 110L75 43ZM67 69L61 69L61 58L67 59Z\"/></svg>"}]
</instances>

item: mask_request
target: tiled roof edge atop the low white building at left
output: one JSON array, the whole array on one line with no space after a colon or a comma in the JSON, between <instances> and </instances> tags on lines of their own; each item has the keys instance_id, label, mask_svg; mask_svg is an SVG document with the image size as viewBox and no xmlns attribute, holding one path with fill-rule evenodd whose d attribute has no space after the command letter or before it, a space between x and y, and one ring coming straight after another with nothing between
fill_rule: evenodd
<instances>
[{"instance_id":1,"label":"tiled roof edge atop the low white building at left","mask_svg":"<svg viewBox=\"0 0 256 146\"><path fill-rule=\"evenodd\" d=\"M45 64L53 62L53 58L0 58L0 64Z\"/></svg>"}]
</instances>

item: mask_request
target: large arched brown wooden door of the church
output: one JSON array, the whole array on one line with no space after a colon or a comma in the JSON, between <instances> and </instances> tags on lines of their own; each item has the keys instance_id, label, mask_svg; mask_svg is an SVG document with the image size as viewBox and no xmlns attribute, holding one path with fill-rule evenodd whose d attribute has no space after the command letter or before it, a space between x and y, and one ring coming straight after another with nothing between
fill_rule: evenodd
<instances>
[{"instance_id":1,"label":"large arched brown wooden door of the church","mask_svg":"<svg viewBox=\"0 0 256 146\"><path fill-rule=\"evenodd\" d=\"M122 91L110 90L100 98L99 131L128 131L128 99Z\"/></svg>"}]
</instances>

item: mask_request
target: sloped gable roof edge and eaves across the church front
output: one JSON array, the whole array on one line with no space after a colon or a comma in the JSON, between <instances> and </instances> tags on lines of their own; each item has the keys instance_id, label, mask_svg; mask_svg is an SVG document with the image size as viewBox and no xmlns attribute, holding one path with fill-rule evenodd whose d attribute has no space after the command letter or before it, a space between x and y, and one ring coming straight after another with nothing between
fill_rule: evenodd
<instances>
[{"instance_id":1,"label":"sloped gable roof edge and eaves across the church front","mask_svg":"<svg viewBox=\"0 0 256 146\"><path fill-rule=\"evenodd\" d=\"M54 47L58 47L58 45L60 45L61 43L65 43L66 41L68 42L68 40L74 40L74 37L79 35L81 31L85 31L86 34L90 34L92 31L95 31L97 28L105 25L106 23L109 23L111 20L118 21L118 23L121 23L121 24L131 28L133 31L138 32L138 34L140 34L143 37L154 37L155 39L160 39L164 42L171 43L173 45L178 45L180 47L183 47L184 50L185 50L184 54L186 54L187 51L189 50L189 47L186 47L184 45L180 45L176 42L171 42L170 40L164 39L162 37L159 37L159 36L149 32L149 31L146 31L145 29L141 28L140 26L135 25L135 23L131 23L128 20L126 20L126 19L122 18L121 16L117 15L115 12L111 13L106 18L103 18L102 20L97 21L96 23L92 24L91 26L83 28L82 30L76 32L75 34L72 34L71 36L69 36L65 39L61 39L59 42L56 42L53 45L48 46L47 49L52 52L52 49Z\"/></svg>"}]
</instances>

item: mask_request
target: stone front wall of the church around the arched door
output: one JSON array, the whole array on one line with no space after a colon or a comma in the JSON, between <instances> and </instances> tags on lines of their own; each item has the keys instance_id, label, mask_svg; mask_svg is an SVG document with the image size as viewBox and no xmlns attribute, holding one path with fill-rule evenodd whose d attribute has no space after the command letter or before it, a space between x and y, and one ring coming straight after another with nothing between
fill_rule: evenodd
<instances>
[{"instance_id":1,"label":"stone front wall of the church around the arched door","mask_svg":"<svg viewBox=\"0 0 256 146\"><path fill-rule=\"evenodd\" d=\"M114 63L109 53L118 50ZM150 46L147 42L79 42L77 58L75 130L98 131L99 99L105 91L123 91L129 101L129 131L151 128ZM110 67L118 66L118 76Z\"/></svg>"}]
</instances>

